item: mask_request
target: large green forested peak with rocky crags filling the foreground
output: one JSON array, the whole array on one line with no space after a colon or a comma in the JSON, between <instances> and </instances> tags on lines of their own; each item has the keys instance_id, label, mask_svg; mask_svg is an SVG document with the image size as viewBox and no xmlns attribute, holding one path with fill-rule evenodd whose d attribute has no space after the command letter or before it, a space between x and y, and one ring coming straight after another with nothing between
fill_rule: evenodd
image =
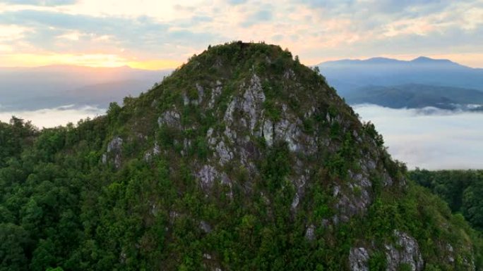
<instances>
[{"instance_id":1,"label":"large green forested peak with rocky crags filling the foreground","mask_svg":"<svg viewBox=\"0 0 483 271\"><path fill-rule=\"evenodd\" d=\"M213 46L106 116L22 129L1 270L480 267L466 222L279 46Z\"/></svg>"}]
</instances>

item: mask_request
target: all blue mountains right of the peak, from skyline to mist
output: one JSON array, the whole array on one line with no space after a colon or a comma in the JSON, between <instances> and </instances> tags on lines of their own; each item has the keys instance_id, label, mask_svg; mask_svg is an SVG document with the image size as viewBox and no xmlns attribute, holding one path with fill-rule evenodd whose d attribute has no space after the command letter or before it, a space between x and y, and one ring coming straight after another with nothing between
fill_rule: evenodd
<instances>
[{"instance_id":1,"label":"all blue mountains right of the peak, from skyline to mist","mask_svg":"<svg viewBox=\"0 0 483 271\"><path fill-rule=\"evenodd\" d=\"M474 109L483 106L483 69L421 56L329 61L318 65L349 103L391 108Z\"/></svg>"}]
</instances>

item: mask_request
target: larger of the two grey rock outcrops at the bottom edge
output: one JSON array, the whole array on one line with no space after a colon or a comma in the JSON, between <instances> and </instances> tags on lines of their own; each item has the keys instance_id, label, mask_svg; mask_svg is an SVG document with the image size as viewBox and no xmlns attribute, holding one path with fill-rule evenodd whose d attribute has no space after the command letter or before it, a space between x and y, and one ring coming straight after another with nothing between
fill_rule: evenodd
<instances>
[{"instance_id":1,"label":"larger of the two grey rock outcrops at the bottom edge","mask_svg":"<svg viewBox=\"0 0 483 271\"><path fill-rule=\"evenodd\" d=\"M394 235L398 248L386 244L387 270L398 271L401 265L407 265L412 271L421 271L424 262L417 241L404 232L395 231Z\"/></svg>"}]
</instances>

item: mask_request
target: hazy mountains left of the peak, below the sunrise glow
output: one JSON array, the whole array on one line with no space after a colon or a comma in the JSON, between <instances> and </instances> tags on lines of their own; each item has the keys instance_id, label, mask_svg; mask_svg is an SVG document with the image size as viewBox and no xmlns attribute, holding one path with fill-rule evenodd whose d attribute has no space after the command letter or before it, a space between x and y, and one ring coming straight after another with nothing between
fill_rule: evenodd
<instances>
[{"instance_id":1,"label":"hazy mountains left of the peak, below the sunrise glow","mask_svg":"<svg viewBox=\"0 0 483 271\"><path fill-rule=\"evenodd\" d=\"M74 104L107 107L124 96L137 96L171 70L129 67L90 68L50 65L0 68L0 111L24 111Z\"/></svg>"}]
</instances>

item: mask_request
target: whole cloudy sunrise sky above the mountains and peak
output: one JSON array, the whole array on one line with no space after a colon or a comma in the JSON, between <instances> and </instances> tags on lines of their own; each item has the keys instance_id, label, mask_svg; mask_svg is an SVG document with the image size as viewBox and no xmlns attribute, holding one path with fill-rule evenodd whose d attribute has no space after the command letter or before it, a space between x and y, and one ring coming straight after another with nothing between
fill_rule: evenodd
<instances>
[{"instance_id":1,"label":"whole cloudy sunrise sky above the mountains and peak","mask_svg":"<svg viewBox=\"0 0 483 271\"><path fill-rule=\"evenodd\" d=\"M483 68L483 0L0 0L0 66L175 68L210 44L279 44L315 65L448 58Z\"/></svg>"}]
</instances>

